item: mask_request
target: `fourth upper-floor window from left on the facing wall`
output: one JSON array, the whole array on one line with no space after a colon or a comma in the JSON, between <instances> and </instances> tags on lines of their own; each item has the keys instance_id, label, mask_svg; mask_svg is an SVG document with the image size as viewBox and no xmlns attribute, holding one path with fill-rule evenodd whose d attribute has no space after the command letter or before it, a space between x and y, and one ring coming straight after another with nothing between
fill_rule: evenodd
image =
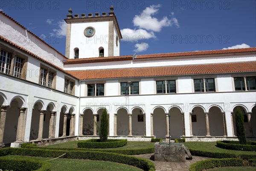
<instances>
[{"instance_id":1,"label":"fourth upper-floor window from left on the facing wall","mask_svg":"<svg viewBox=\"0 0 256 171\"><path fill-rule=\"evenodd\" d=\"M214 78L194 79L195 92L215 91Z\"/></svg>"}]
</instances>

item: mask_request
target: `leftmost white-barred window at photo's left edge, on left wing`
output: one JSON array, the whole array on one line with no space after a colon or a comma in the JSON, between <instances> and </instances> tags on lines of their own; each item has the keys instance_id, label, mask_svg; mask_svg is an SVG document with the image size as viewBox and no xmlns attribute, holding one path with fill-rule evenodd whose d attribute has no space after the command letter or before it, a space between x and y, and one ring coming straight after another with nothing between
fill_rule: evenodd
<instances>
[{"instance_id":1,"label":"leftmost white-barred window at photo's left edge, on left wing","mask_svg":"<svg viewBox=\"0 0 256 171\"><path fill-rule=\"evenodd\" d=\"M10 74L12 54L1 50L0 54L0 72Z\"/></svg>"}]
</instances>

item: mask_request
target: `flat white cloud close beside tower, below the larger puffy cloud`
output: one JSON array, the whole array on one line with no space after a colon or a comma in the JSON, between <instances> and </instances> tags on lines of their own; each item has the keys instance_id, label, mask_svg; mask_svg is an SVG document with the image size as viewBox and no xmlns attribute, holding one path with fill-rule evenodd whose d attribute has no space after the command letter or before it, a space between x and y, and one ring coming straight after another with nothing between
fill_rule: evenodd
<instances>
[{"instance_id":1,"label":"flat white cloud close beside tower, below the larger puffy cloud","mask_svg":"<svg viewBox=\"0 0 256 171\"><path fill-rule=\"evenodd\" d=\"M122 37L127 38L127 41L137 43L139 41L142 41L144 39L150 39L150 38L155 38L156 36L154 33L148 32L144 29L138 29L138 30L132 30L130 28L124 28L121 30Z\"/></svg>"}]
</instances>

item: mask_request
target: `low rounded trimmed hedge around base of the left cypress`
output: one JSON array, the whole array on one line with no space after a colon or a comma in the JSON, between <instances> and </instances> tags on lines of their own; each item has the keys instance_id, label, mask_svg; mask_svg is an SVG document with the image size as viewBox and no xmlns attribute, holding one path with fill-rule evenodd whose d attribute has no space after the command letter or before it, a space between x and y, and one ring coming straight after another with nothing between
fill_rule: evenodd
<instances>
[{"instance_id":1,"label":"low rounded trimmed hedge around base of the left cypress","mask_svg":"<svg viewBox=\"0 0 256 171\"><path fill-rule=\"evenodd\" d=\"M77 143L79 148L117 148L127 144L126 139L108 140L107 142L99 142L99 139L80 140Z\"/></svg>"}]
</instances>

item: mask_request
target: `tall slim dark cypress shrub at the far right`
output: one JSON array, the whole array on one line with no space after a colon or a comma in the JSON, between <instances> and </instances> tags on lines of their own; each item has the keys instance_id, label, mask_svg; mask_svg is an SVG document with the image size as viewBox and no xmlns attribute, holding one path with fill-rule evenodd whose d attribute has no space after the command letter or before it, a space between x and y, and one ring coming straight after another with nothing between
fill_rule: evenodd
<instances>
[{"instance_id":1,"label":"tall slim dark cypress shrub at the far right","mask_svg":"<svg viewBox=\"0 0 256 171\"><path fill-rule=\"evenodd\" d=\"M241 109L238 107L235 114L236 118L236 136L239 139L240 144L247 144L245 129L244 129L244 115Z\"/></svg>"}]
</instances>

